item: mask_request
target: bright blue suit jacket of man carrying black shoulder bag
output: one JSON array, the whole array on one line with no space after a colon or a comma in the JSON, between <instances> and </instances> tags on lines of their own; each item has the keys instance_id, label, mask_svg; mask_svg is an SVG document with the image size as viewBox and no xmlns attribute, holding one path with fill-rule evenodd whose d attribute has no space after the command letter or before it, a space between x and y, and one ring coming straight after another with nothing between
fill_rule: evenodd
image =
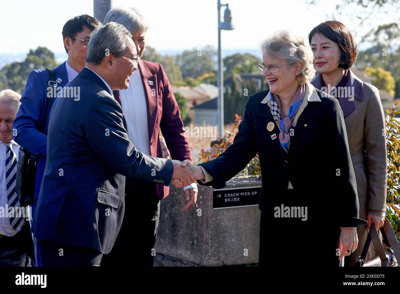
<instances>
[{"instance_id":1,"label":"bright blue suit jacket of man carrying black shoulder bag","mask_svg":"<svg viewBox=\"0 0 400 294\"><path fill-rule=\"evenodd\" d=\"M65 62L53 68L56 74L57 87L64 87L68 83L67 70ZM26 150L39 156L38 167L35 179L35 192L34 199L37 200L39 196L40 184L42 182L44 166L46 165L46 148L47 148L47 128L50 119L50 110L46 118L44 129L40 129L44 112L47 107L47 87L49 81L49 74L47 70L38 69L32 70L26 81L24 93L21 96L21 105L12 124L16 129L14 136L15 142L24 147ZM52 104L56 98L53 99ZM13 133L14 134L14 133ZM34 214L34 207L32 214Z\"/></svg>"}]
</instances>

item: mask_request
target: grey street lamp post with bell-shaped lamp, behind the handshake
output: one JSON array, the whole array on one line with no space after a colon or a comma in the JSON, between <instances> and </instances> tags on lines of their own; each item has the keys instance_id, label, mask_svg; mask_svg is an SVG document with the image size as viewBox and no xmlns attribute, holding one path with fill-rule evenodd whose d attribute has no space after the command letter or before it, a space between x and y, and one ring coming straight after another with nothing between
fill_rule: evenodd
<instances>
[{"instance_id":1,"label":"grey street lamp post with bell-shaped lamp, behind the handshake","mask_svg":"<svg viewBox=\"0 0 400 294\"><path fill-rule=\"evenodd\" d=\"M224 22L221 22L221 7L226 6ZM224 61L221 54L221 30L233 30L232 16L228 4L218 0L218 128L220 136L224 136Z\"/></svg>"}]
</instances>

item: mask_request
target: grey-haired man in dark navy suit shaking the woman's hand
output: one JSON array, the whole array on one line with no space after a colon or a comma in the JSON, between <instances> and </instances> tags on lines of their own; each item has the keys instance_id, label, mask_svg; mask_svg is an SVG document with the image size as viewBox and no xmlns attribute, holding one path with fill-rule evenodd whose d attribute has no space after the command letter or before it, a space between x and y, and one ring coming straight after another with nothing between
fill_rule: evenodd
<instances>
[{"instance_id":1,"label":"grey-haired man in dark navy suit shaking the woman's hand","mask_svg":"<svg viewBox=\"0 0 400 294\"><path fill-rule=\"evenodd\" d=\"M86 67L64 87L77 95L57 98L50 113L32 228L43 266L100 266L122 225L126 176L164 186L172 179L194 182L179 160L148 156L129 141L112 91L127 89L138 68L131 38L115 22L93 30Z\"/></svg>"}]
</instances>

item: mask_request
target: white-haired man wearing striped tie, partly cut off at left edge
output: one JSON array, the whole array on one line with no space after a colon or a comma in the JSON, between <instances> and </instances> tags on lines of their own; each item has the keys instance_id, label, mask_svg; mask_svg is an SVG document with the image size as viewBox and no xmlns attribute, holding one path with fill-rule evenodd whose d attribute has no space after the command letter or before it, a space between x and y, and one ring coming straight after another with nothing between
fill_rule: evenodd
<instances>
[{"instance_id":1,"label":"white-haired man wearing striped tie, partly cut off at left edge","mask_svg":"<svg viewBox=\"0 0 400 294\"><path fill-rule=\"evenodd\" d=\"M19 146L12 140L12 122L20 98L21 95L12 90L0 92L0 266L30 265L28 216L25 208L22 217L15 214L21 205L15 191Z\"/></svg>"}]
</instances>

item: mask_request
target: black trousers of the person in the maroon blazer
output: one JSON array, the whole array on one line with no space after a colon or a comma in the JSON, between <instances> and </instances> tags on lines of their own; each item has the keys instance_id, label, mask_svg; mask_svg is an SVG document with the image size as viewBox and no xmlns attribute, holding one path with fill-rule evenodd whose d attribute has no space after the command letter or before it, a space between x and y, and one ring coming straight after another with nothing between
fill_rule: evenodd
<instances>
[{"instance_id":1,"label":"black trousers of the person in the maroon blazer","mask_svg":"<svg viewBox=\"0 0 400 294\"><path fill-rule=\"evenodd\" d=\"M160 217L156 186L149 182L126 180L125 214L112 250L101 266L153 266Z\"/></svg>"}]
</instances>

